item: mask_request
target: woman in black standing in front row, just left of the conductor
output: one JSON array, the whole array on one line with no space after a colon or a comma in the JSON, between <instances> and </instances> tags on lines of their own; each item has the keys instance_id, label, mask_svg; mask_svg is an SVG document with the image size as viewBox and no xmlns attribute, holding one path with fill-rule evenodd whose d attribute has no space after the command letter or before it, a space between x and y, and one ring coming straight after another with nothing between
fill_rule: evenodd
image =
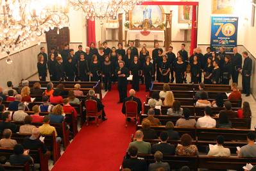
<instances>
[{"instance_id":1,"label":"woman in black standing in front row, just left of the conductor","mask_svg":"<svg viewBox=\"0 0 256 171\"><path fill-rule=\"evenodd\" d=\"M115 69L112 61L109 59L109 56L105 56L105 60L103 61L101 68L105 92L111 91L111 77L114 76Z\"/></svg>"}]
</instances>

